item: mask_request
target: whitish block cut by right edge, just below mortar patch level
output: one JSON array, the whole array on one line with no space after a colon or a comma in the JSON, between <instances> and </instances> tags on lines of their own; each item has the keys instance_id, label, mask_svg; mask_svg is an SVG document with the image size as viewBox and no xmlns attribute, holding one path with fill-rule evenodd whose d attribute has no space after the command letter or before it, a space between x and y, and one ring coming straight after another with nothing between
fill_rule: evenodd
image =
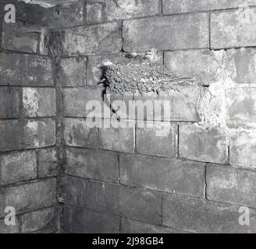
<instances>
[{"instance_id":1,"label":"whitish block cut by right edge, just below mortar patch level","mask_svg":"<svg viewBox=\"0 0 256 249\"><path fill-rule=\"evenodd\" d=\"M233 166L256 168L256 130L230 132L229 161Z\"/></svg>"}]
</instances>

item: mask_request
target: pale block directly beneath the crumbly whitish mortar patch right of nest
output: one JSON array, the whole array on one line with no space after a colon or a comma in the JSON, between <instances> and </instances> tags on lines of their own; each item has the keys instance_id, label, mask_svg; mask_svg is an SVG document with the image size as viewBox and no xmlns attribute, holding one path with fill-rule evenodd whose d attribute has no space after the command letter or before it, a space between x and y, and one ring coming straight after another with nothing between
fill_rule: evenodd
<instances>
[{"instance_id":1,"label":"pale block directly beneath the crumbly whitish mortar patch right of nest","mask_svg":"<svg viewBox=\"0 0 256 249\"><path fill-rule=\"evenodd\" d=\"M227 163L225 132L196 124L180 125L180 156L209 163Z\"/></svg>"}]
</instances>

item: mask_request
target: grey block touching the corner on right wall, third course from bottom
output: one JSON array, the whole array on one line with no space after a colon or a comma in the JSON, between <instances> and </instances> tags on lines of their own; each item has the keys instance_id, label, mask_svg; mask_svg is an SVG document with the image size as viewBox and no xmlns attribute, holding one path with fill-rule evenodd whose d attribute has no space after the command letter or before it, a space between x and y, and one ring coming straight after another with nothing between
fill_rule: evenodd
<instances>
[{"instance_id":1,"label":"grey block touching the corner on right wall, third course from bottom","mask_svg":"<svg viewBox=\"0 0 256 249\"><path fill-rule=\"evenodd\" d=\"M119 177L116 153L91 149L66 149L66 174L115 182Z\"/></svg>"}]
</instances>

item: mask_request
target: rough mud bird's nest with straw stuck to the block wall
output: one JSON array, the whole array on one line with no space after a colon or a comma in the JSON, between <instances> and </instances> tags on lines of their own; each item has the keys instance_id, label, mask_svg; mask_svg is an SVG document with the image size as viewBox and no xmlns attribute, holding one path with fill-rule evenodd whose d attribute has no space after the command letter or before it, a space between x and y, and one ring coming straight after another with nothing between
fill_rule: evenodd
<instances>
[{"instance_id":1,"label":"rough mud bird's nest with straw stuck to the block wall","mask_svg":"<svg viewBox=\"0 0 256 249\"><path fill-rule=\"evenodd\" d=\"M104 81L113 93L150 93L172 90L178 91L178 86L202 86L196 79L183 77L169 72L161 63L155 48L144 57L136 53L127 55L128 64L105 63Z\"/></svg>"}]
</instances>

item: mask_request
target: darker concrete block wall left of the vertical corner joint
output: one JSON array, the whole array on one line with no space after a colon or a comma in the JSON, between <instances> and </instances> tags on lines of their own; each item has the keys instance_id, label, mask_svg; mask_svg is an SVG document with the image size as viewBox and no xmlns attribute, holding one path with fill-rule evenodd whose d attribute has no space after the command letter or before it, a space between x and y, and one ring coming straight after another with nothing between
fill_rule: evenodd
<instances>
[{"instance_id":1,"label":"darker concrete block wall left of the vertical corner joint","mask_svg":"<svg viewBox=\"0 0 256 249\"><path fill-rule=\"evenodd\" d=\"M16 23L5 23L2 13L0 21L0 233L55 233L62 209L50 33L39 20L20 16L32 14L24 2L2 1L1 11L10 3ZM9 206L16 211L14 226L4 222Z\"/></svg>"}]
</instances>

